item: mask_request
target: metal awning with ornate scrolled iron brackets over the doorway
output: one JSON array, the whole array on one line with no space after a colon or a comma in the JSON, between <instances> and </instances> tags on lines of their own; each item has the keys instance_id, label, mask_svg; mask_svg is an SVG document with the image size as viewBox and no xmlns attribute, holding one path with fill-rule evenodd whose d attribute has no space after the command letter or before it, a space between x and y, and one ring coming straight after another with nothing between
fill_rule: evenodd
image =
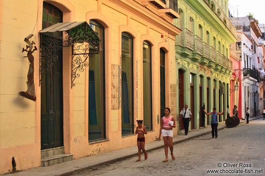
<instances>
[{"instance_id":1,"label":"metal awning with ornate scrolled iron brackets over the doorway","mask_svg":"<svg viewBox=\"0 0 265 176\"><path fill-rule=\"evenodd\" d=\"M49 71L58 50L72 46L72 85L74 79L79 77L76 71L83 71L88 66L86 59L89 54L99 53L97 34L86 21L61 22L39 31L40 57L39 57L39 84L43 74Z\"/></svg>"}]
</instances>

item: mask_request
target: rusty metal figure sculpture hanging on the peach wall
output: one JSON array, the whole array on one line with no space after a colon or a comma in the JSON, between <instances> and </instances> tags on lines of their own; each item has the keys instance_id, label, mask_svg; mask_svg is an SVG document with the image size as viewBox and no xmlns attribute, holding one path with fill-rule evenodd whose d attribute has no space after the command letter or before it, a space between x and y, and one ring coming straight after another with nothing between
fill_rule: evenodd
<instances>
[{"instance_id":1,"label":"rusty metal figure sculpture hanging on the peach wall","mask_svg":"<svg viewBox=\"0 0 265 176\"><path fill-rule=\"evenodd\" d=\"M35 96L35 86L34 86L34 57L32 53L37 50L36 46L33 48L34 41L30 42L28 39L31 38L33 34L29 34L27 37L25 37L24 41L27 43L26 49L22 49L22 52L26 51L27 52L27 57L30 64L27 72L27 90L26 92L19 92L18 95L21 95L22 97L25 97L29 100L36 101L36 96ZM27 50L28 49L28 50Z\"/></svg>"}]
</instances>

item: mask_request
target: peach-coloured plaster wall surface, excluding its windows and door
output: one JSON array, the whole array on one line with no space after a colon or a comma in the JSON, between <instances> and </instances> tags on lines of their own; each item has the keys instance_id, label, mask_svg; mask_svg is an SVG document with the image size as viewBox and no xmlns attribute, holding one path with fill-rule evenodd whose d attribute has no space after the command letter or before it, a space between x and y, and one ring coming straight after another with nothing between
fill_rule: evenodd
<instances>
[{"instance_id":1,"label":"peach-coloured plaster wall surface, excluding its windows and door","mask_svg":"<svg viewBox=\"0 0 265 176\"><path fill-rule=\"evenodd\" d=\"M160 113L159 97L159 48L166 52L166 106L170 101L170 85L175 78L175 35L180 30L167 20L132 0L44 0L63 12L63 22L98 20L105 27L105 123L109 141L88 143L88 68L75 79L71 88L71 49L63 48L63 142L65 153L74 158L94 155L136 145L136 135L121 137L121 109L111 109L111 64L120 64L121 32L133 36L134 121L142 119L142 42L152 44L152 124L153 131L146 135L146 142L159 135L157 115ZM39 34L42 23L42 0L0 0L0 174L10 172L14 157L17 170L40 166L40 86L39 86ZM133 5L132 5L133 4ZM30 6L30 9L28 8ZM129 8L131 7L131 8ZM141 13L139 13L138 11ZM32 32L32 29L35 28ZM18 32L19 31L19 32ZM24 37L33 33L37 51L34 55L34 83L36 101L18 96L26 89L28 60L21 53ZM4 35L3 35L4 34ZM163 35L163 37L161 37ZM4 85L4 86L2 86ZM137 87L136 87L137 85ZM176 118L175 118L176 119ZM135 130L135 129L134 129ZM174 129L174 135L177 130Z\"/></svg>"}]
</instances>

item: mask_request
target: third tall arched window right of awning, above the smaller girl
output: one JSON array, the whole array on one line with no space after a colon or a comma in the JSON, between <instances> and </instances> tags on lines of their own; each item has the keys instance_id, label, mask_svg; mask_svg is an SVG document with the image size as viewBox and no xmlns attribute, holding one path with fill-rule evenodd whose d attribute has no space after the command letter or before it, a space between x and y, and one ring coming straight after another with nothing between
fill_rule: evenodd
<instances>
[{"instance_id":1,"label":"third tall arched window right of awning, above the smaller girl","mask_svg":"<svg viewBox=\"0 0 265 176\"><path fill-rule=\"evenodd\" d=\"M151 45L143 41L143 125L152 130L152 97L151 97Z\"/></svg>"}]
</instances>

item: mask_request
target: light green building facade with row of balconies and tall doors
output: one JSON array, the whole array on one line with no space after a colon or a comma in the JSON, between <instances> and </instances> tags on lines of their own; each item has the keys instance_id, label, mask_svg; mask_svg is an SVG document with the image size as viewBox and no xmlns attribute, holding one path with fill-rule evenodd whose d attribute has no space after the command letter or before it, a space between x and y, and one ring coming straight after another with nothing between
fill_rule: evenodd
<instances>
[{"instance_id":1,"label":"light green building facade with row of balconies and tall doors","mask_svg":"<svg viewBox=\"0 0 265 176\"><path fill-rule=\"evenodd\" d=\"M176 112L187 104L192 112L190 129L210 125L207 112L224 111L218 122L226 119L230 110L229 43L236 42L236 30L228 19L227 0L178 0L179 19L175 25L182 31L176 36ZM178 118L177 118L178 119ZM178 120L178 133L182 120Z\"/></svg>"}]
</instances>

